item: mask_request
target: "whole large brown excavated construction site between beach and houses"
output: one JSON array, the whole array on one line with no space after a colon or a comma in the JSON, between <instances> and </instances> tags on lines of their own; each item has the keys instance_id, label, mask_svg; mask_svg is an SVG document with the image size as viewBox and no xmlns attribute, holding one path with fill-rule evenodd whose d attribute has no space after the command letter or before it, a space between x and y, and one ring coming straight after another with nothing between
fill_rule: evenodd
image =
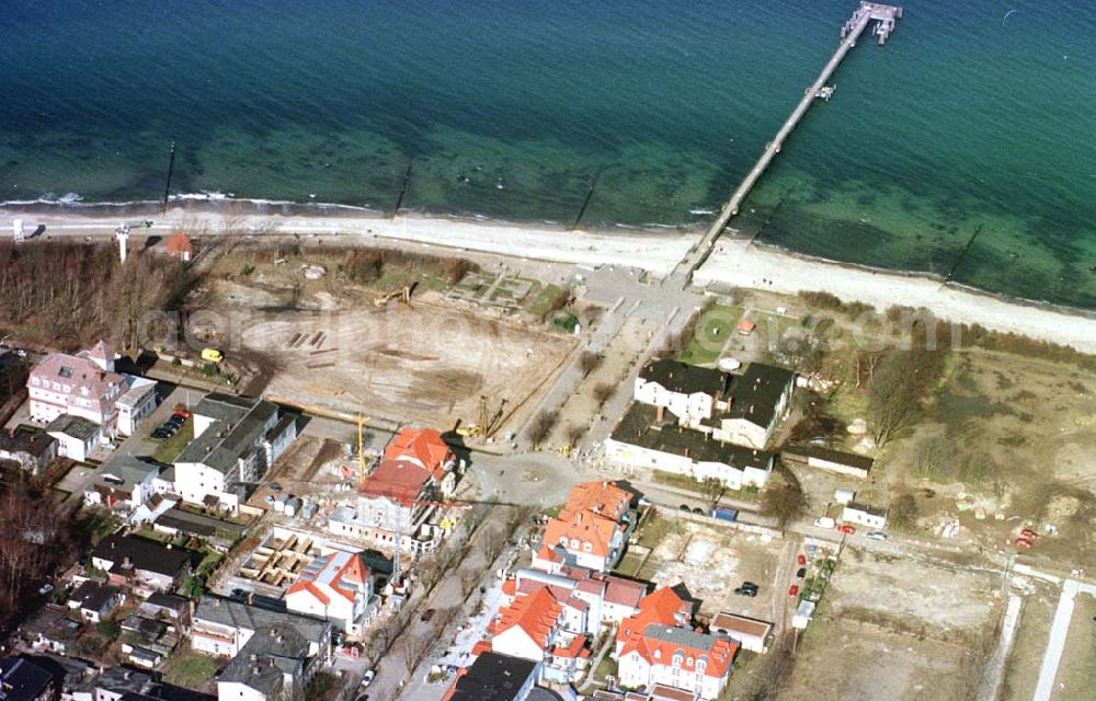
<instances>
[{"instance_id":1,"label":"whole large brown excavated construction site between beach and houses","mask_svg":"<svg viewBox=\"0 0 1096 701\"><path fill-rule=\"evenodd\" d=\"M274 401L492 436L516 430L575 347L543 324L448 298L459 280L433 268L385 263L364 283L340 255L306 249L267 262L250 252L240 268L226 253L193 307L231 322L195 333L241 376L261 376L249 391Z\"/></svg>"}]
</instances>

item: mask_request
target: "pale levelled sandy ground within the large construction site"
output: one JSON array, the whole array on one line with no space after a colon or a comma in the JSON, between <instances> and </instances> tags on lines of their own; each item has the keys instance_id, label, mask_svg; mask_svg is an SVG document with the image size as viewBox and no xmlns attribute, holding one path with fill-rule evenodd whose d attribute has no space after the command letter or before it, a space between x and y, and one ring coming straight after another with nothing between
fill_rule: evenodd
<instances>
[{"instance_id":1,"label":"pale levelled sandy ground within the large construction site","mask_svg":"<svg viewBox=\"0 0 1096 701\"><path fill-rule=\"evenodd\" d=\"M281 313L251 326L243 343L276 356L272 397L442 429L475 422L480 395L492 412L502 400L505 416L521 412L573 347L560 335L425 302Z\"/></svg>"}]
</instances>

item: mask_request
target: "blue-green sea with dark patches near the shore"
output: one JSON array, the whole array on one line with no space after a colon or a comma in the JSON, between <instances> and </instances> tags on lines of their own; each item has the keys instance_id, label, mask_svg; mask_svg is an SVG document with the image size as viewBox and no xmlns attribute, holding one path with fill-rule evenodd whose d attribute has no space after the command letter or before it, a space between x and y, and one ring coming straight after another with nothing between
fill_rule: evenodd
<instances>
[{"instance_id":1,"label":"blue-green sea with dark patches near the shore","mask_svg":"<svg viewBox=\"0 0 1096 701\"><path fill-rule=\"evenodd\" d=\"M856 4L4 0L0 200L704 229ZM1096 2L903 7L731 234L1096 309Z\"/></svg>"}]
</instances>

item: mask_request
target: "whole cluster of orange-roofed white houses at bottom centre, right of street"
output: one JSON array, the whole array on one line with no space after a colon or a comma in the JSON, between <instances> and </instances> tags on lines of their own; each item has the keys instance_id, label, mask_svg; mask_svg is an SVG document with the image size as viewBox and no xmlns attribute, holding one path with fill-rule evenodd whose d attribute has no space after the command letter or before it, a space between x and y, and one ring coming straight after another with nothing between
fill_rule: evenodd
<instances>
[{"instance_id":1,"label":"whole cluster of orange-roofed white houses at bottom centre, right of street","mask_svg":"<svg viewBox=\"0 0 1096 701\"><path fill-rule=\"evenodd\" d=\"M503 656L489 657L490 668L516 665L509 659L528 666L521 667L521 683L515 679L515 696L486 698L525 698L521 693L541 680L563 687L578 681L593 642L607 633L614 634L621 686L664 687L694 700L719 697L740 647L767 648L770 624L721 613L705 632L694 621L696 602L677 588L649 591L647 584L607 573L618 556L616 539L627 533L633 515L631 498L612 482L589 482L575 486L560 515L548 519L530 566L503 584L499 611L473 648L481 657ZM476 678L476 664L458 675L447 698L479 683L468 680Z\"/></svg>"}]
</instances>

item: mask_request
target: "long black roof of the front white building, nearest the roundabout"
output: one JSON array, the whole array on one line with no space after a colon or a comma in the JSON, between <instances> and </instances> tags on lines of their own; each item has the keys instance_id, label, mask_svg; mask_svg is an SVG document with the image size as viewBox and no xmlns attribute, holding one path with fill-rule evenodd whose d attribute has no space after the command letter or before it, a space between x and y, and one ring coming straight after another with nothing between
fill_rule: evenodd
<instances>
[{"instance_id":1,"label":"long black roof of the front white building, nearest the roundabout","mask_svg":"<svg viewBox=\"0 0 1096 701\"><path fill-rule=\"evenodd\" d=\"M706 438L699 430L678 427L677 420L671 412L665 412L669 420L660 424L657 411L649 404L632 402L613 429L613 440L675 456L684 456L688 451L693 460L722 462L740 470L768 469L773 453L731 444L720 445L718 440Z\"/></svg>"}]
</instances>

